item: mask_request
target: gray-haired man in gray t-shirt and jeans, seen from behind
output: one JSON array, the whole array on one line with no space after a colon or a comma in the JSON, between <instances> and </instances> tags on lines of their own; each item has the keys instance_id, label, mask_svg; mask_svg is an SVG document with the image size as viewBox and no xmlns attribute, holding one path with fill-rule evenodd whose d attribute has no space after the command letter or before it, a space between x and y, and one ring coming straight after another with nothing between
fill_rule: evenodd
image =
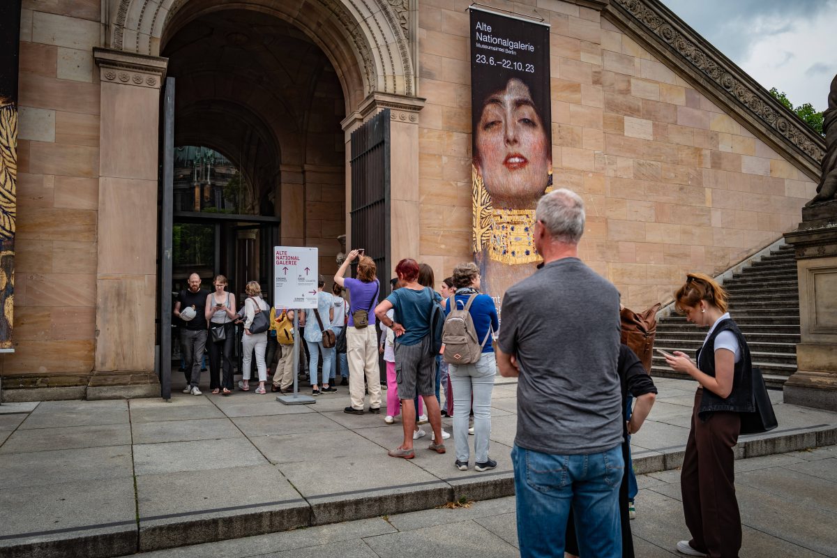
<instances>
[{"instance_id":1,"label":"gray-haired man in gray t-shirt and jeans, seen from behind","mask_svg":"<svg viewBox=\"0 0 837 558\"><path fill-rule=\"evenodd\" d=\"M501 375L518 377L511 458L521 556L563 555L574 507L581 555L616 558L624 474L619 292L578 259L577 194L546 194L536 219L544 265L506 291L497 352Z\"/></svg>"}]
</instances>

